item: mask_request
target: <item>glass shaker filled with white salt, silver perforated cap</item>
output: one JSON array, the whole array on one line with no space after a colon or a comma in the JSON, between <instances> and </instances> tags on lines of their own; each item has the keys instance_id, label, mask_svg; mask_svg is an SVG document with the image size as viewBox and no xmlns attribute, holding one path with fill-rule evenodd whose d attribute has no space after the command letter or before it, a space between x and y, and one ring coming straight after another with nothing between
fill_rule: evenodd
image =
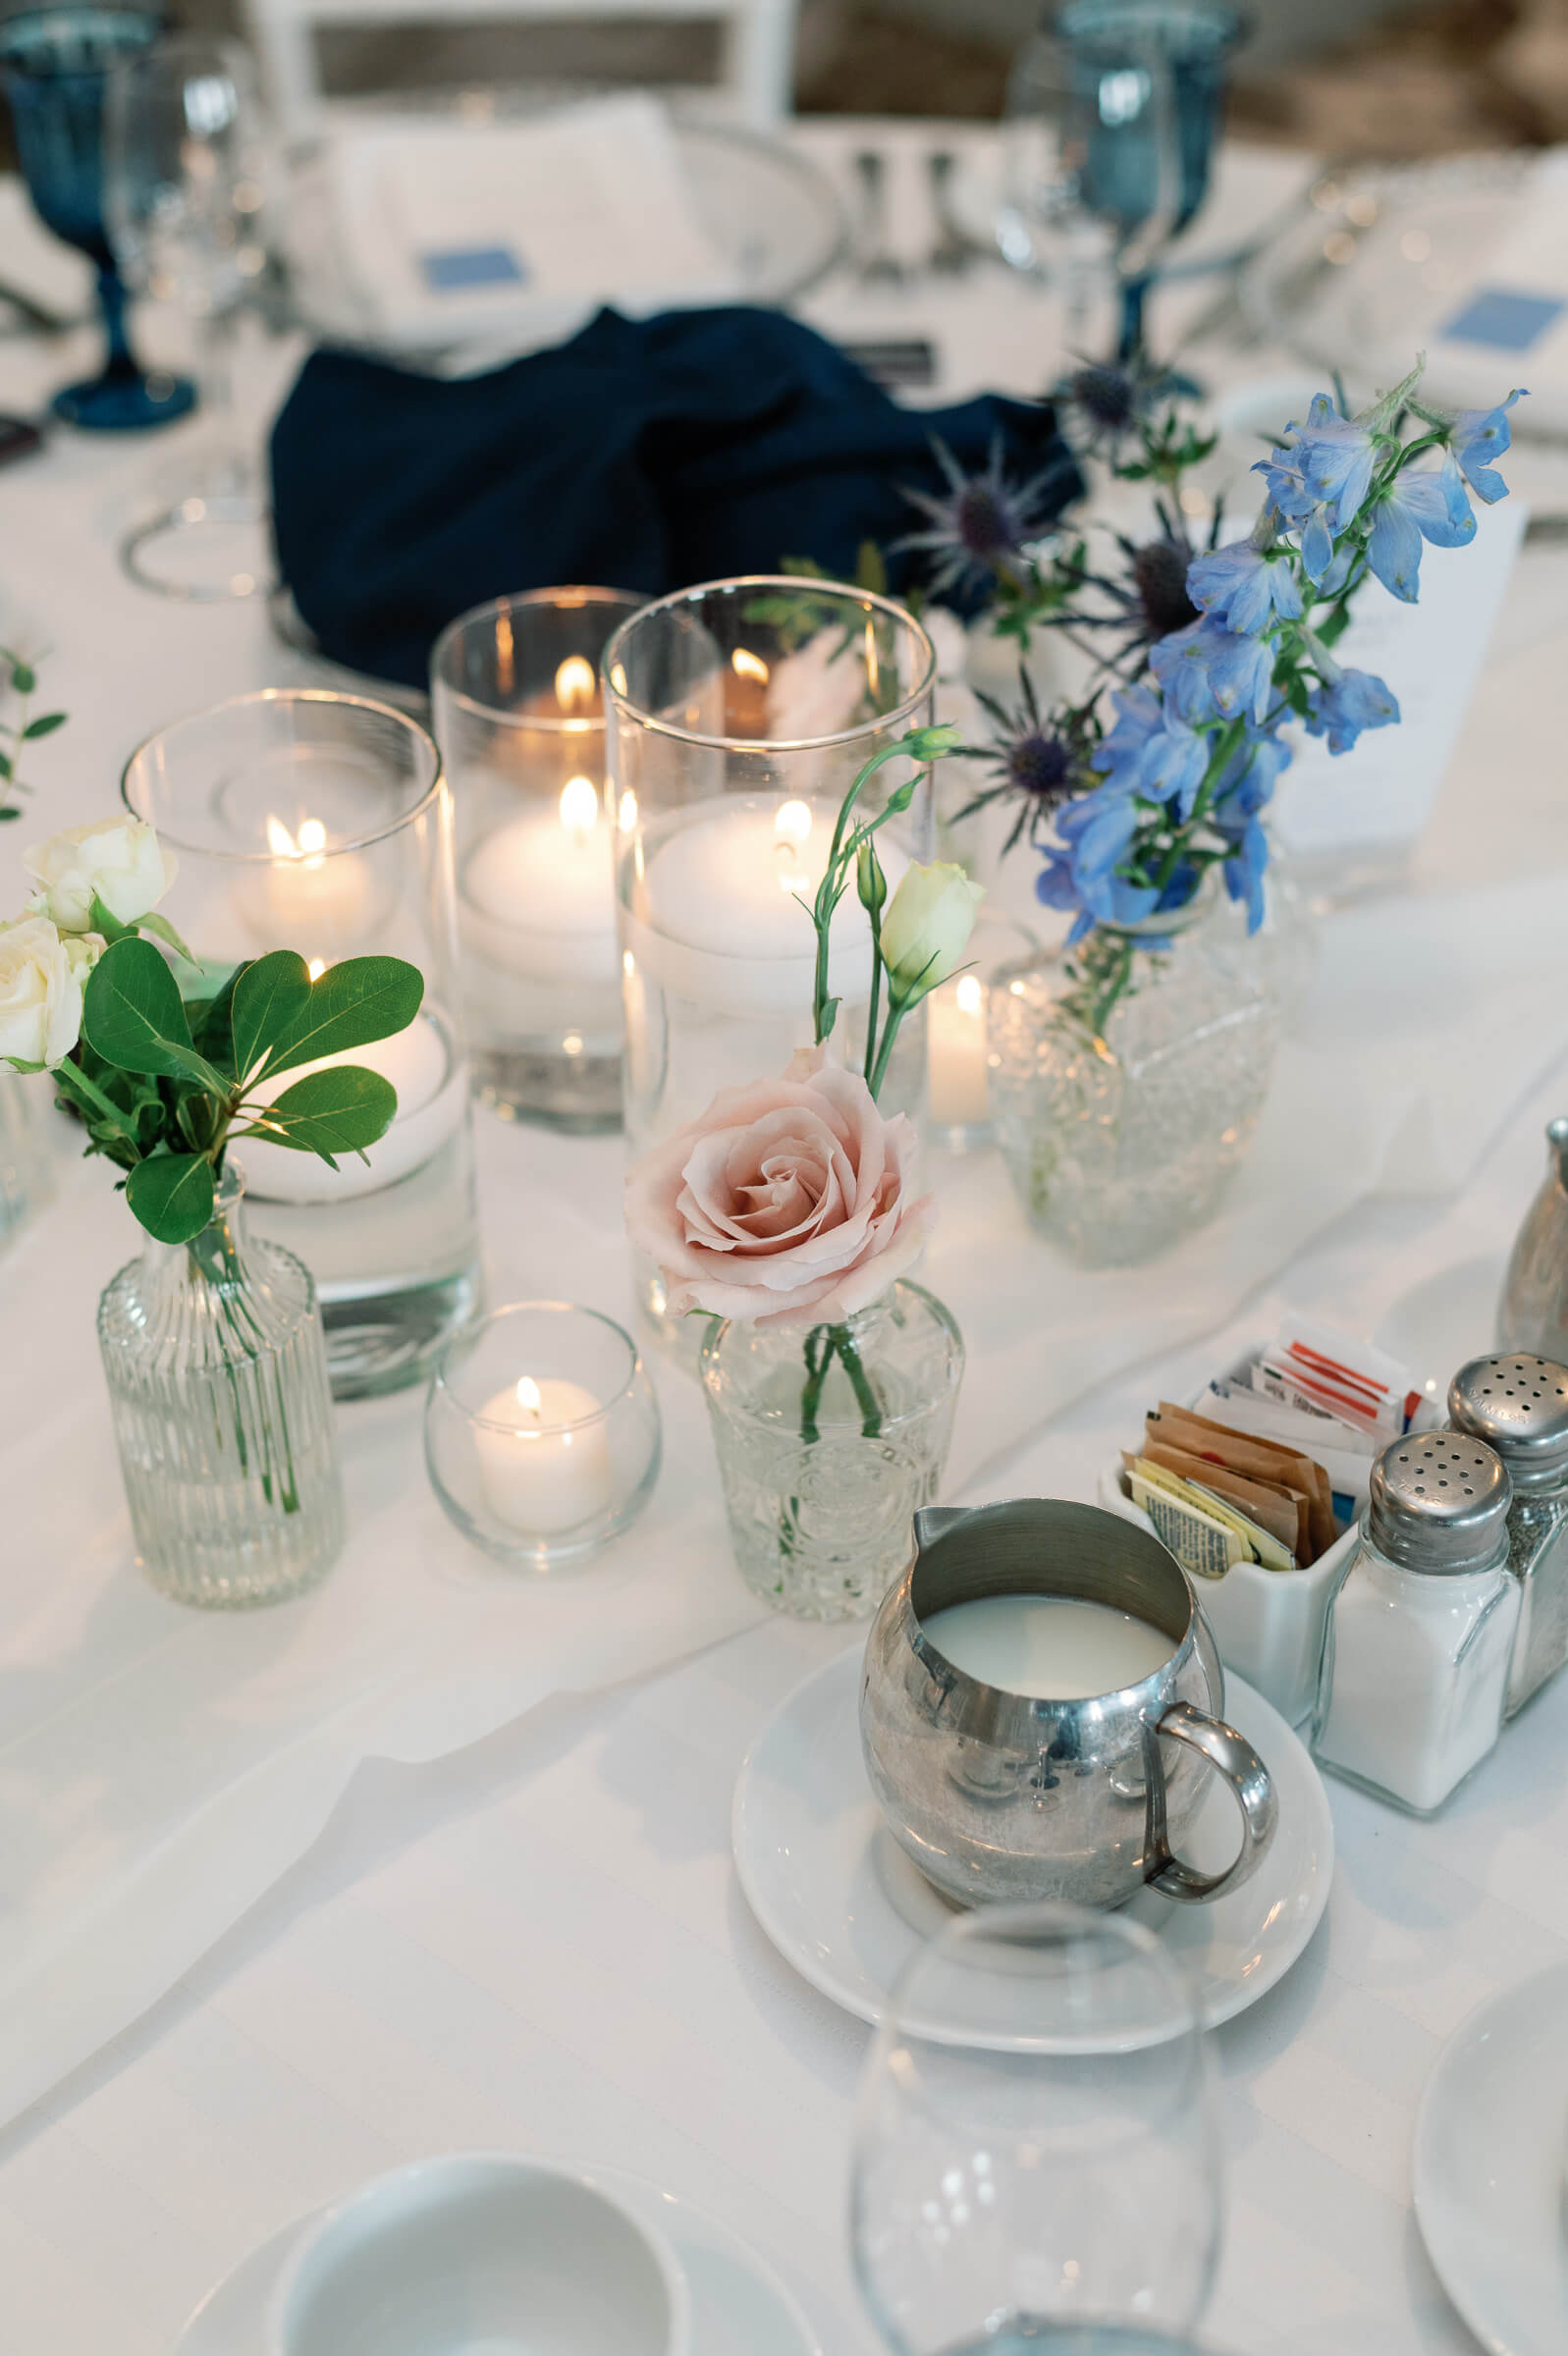
<instances>
[{"instance_id":1,"label":"glass shaker filled with white salt, silver perforated cap","mask_svg":"<svg viewBox=\"0 0 1568 2356\"><path fill-rule=\"evenodd\" d=\"M1469 1432L1408 1432L1372 1465L1323 1644L1311 1746L1431 1816L1502 1729L1518 1626L1502 1458Z\"/></svg>"}]
</instances>

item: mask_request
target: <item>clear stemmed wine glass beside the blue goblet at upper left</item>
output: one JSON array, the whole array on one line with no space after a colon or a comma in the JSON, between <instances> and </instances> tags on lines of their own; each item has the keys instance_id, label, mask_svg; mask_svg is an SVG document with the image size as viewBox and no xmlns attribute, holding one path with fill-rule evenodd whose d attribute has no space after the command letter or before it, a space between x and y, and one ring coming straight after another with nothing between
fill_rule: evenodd
<instances>
[{"instance_id":1,"label":"clear stemmed wine glass beside the blue goblet at upper left","mask_svg":"<svg viewBox=\"0 0 1568 2356\"><path fill-rule=\"evenodd\" d=\"M266 266L269 134L233 40L182 33L125 57L104 106L104 212L120 269L179 304L198 337L207 434L182 495L123 544L144 589L257 596L271 584L266 504L233 422L233 335Z\"/></svg>"}]
</instances>

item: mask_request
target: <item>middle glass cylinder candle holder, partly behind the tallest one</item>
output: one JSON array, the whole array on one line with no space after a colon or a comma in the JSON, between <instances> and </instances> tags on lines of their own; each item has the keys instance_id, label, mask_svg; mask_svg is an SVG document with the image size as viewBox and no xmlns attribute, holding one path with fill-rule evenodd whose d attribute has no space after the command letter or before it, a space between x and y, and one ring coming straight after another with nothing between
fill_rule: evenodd
<instances>
[{"instance_id":1,"label":"middle glass cylinder candle holder, partly behind the tallest one","mask_svg":"<svg viewBox=\"0 0 1568 2356\"><path fill-rule=\"evenodd\" d=\"M620 1126L620 954L599 657L644 601L535 589L460 615L429 664L457 829L462 1006L509 1119Z\"/></svg>"}]
</instances>

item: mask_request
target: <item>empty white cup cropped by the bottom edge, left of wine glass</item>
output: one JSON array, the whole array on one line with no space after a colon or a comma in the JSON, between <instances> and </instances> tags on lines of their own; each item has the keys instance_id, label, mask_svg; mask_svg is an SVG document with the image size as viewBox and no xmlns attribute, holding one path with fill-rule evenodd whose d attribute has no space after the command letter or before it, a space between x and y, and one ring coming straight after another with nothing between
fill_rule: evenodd
<instances>
[{"instance_id":1,"label":"empty white cup cropped by the bottom edge, left of wine glass","mask_svg":"<svg viewBox=\"0 0 1568 2356\"><path fill-rule=\"evenodd\" d=\"M323 2212L269 2307L269 2356L689 2356L665 2241L566 2170L415 2160Z\"/></svg>"}]
</instances>

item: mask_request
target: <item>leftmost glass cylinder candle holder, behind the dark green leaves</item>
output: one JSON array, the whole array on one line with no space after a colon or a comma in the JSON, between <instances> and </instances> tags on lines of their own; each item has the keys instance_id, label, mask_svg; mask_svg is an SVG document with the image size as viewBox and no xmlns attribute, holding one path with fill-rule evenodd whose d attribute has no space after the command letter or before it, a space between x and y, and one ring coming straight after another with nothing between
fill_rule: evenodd
<instances>
[{"instance_id":1,"label":"leftmost glass cylinder candle holder, behind the dark green leaves","mask_svg":"<svg viewBox=\"0 0 1568 2356\"><path fill-rule=\"evenodd\" d=\"M453 806L431 737L389 704L269 688L149 737L123 794L179 858L163 907L198 959L177 964L184 997L266 949L311 973L384 954L424 975L415 1023L342 1058L398 1091L368 1159L262 1147L245 1197L252 1232L316 1279L332 1395L422 1381L479 1303Z\"/></svg>"}]
</instances>

